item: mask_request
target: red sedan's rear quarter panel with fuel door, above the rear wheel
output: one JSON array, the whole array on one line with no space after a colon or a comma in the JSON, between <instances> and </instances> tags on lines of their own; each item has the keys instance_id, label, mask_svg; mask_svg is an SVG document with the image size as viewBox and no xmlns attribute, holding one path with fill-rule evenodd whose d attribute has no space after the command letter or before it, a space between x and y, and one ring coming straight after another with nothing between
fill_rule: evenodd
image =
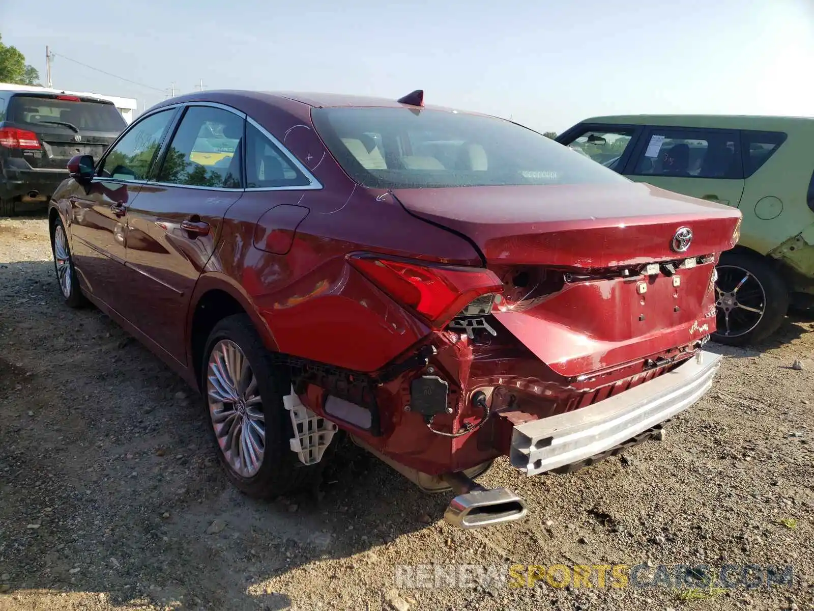
<instances>
[{"instance_id":1,"label":"red sedan's rear quarter panel with fuel door, above the rear wheel","mask_svg":"<svg viewBox=\"0 0 814 611\"><path fill-rule=\"evenodd\" d=\"M466 240L410 216L392 200L376 200L352 182L314 133L304 104L270 109L252 103L242 109L274 134L322 189L246 191L226 213L221 241L199 282L214 286L218 277L228 278L223 286L252 310L269 349L354 371L378 370L430 329L350 266L348 253L460 265L478 265L478 254ZM286 211L275 213L278 206ZM292 209L301 209L301 221ZM260 218L269 226L259 227ZM278 228L283 239L264 248ZM278 244L291 247L282 252Z\"/></svg>"}]
</instances>

